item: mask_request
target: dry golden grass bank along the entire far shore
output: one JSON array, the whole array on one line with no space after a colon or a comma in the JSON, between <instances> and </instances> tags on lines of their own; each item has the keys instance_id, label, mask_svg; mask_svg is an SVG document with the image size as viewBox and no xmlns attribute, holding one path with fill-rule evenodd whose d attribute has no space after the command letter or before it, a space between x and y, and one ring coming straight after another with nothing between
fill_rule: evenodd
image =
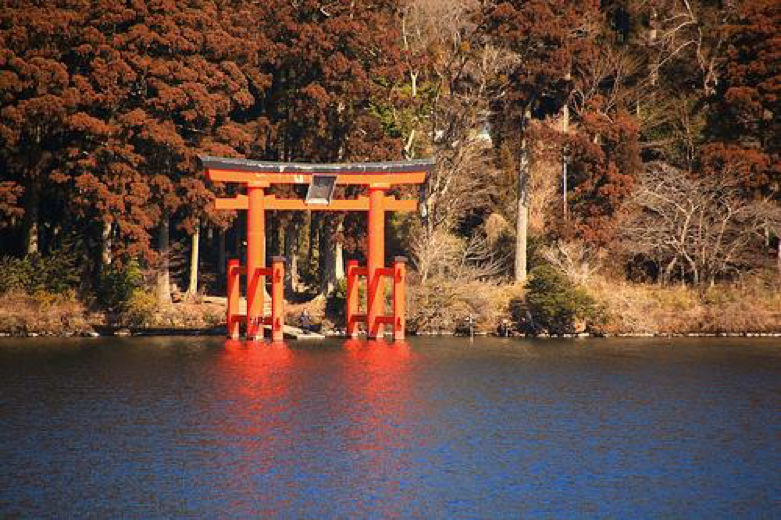
<instances>
[{"instance_id":1,"label":"dry golden grass bank along the entire far shore","mask_svg":"<svg viewBox=\"0 0 781 520\"><path fill-rule=\"evenodd\" d=\"M529 295L518 285L434 280L413 282L409 288L409 330L420 334L457 333L465 330L466 318L475 320L478 333L495 333L502 321L518 333L528 330ZM611 281L595 277L579 286L597 309L594 316L575 315L569 332L593 334L717 334L781 332L781 285L770 278L752 278L739 284L722 284L696 290L692 287L659 286ZM564 299L571 297L564 295ZM224 321L224 304L218 299L195 298L158 307L151 297L133 299L123 312L90 310L72 293L33 295L13 291L0 296L0 333L10 335L79 335L95 328L132 327L149 329L207 329ZM338 327L337 311L327 310L317 298L290 304L288 320L306 308L315 323Z\"/></svg>"}]
</instances>

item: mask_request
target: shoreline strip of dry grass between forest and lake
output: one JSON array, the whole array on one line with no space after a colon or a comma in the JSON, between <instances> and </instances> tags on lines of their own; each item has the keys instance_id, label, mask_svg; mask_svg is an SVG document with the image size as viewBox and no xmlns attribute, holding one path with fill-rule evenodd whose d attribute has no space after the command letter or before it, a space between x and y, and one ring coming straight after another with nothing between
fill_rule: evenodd
<instances>
[{"instance_id":1,"label":"shoreline strip of dry grass between forest and lake","mask_svg":"<svg viewBox=\"0 0 781 520\"><path fill-rule=\"evenodd\" d=\"M770 287L749 290L730 286L707 298L686 287L617 285L603 280L592 288L603 308L602 314L593 320L580 318L561 326L559 330L572 331L566 334L539 333L540 329L528 328L526 318L518 315L521 309L518 302L525 296L513 287L501 287L490 293L493 302L490 308L443 308L426 318L419 309L416 314L413 306L407 333L409 336L468 336L471 316L471 330L476 336L781 338L781 291ZM144 308L144 312L110 314L75 297L50 302L39 295L9 293L0 297L0 337L225 337L223 300L200 295L195 299L180 298L167 306ZM344 337L338 313L329 310L327 301L321 297L289 302L285 322L298 324L298 317L304 311L324 335Z\"/></svg>"}]
</instances>

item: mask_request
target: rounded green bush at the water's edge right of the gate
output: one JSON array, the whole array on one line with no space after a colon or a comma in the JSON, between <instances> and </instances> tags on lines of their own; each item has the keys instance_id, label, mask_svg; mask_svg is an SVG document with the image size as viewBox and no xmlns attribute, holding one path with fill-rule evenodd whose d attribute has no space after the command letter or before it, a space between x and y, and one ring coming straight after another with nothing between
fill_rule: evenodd
<instances>
[{"instance_id":1,"label":"rounded green bush at the water's edge right of the gate","mask_svg":"<svg viewBox=\"0 0 781 520\"><path fill-rule=\"evenodd\" d=\"M532 332L577 332L580 323L598 322L602 312L585 290L550 265L532 269L526 284L525 310L514 309L516 319ZM526 312L528 311L528 312Z\"/></svg>"}]
</instances>

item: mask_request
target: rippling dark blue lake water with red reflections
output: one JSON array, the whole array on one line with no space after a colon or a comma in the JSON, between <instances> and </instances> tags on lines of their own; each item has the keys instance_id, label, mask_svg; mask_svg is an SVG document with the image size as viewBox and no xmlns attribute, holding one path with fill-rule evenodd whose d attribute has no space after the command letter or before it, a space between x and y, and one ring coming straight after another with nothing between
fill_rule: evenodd
<instances>
[{"instance_id":1,"label":"rippling dark blue lake water with red reflections","mask_svg":"<svg viewBox=\"0 0 781 520\"><path fill-rule=\"evenodd\" d=\"M0 340L0 517L781 517L781 342Z\"/></svg>"}]
</instances>

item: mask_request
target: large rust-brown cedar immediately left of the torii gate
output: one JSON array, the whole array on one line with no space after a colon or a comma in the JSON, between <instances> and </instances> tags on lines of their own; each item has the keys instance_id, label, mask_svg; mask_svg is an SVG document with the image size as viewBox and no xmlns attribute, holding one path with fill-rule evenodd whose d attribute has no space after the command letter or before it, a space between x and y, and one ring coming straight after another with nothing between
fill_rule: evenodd
<instances>
[{"instance_id":1,"label":"large rust-brown cedar immediately left of the torii gate","mask_svg":"<svg viewBox=\"0 0 781 520\"><path fill-rule=\"evenodd\" d=\"M196 0L89 12L76 78L93 146L73 180L88 211L117 220L130 255L148 254L149 231L171 216L188 232L219 218L196 155L234 152L224 127L254 101L236 63L244 43L220 22L216 2Z\"/></svg>"}]
</instances>

